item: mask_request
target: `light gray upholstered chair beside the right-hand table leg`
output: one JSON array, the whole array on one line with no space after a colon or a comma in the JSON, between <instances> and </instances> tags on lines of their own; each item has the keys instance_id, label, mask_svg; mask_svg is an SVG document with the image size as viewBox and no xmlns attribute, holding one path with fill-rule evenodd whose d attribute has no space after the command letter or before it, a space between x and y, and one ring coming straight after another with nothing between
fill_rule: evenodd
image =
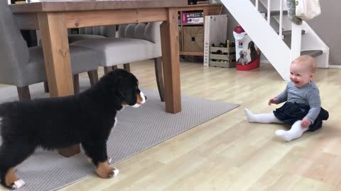
<instances>
[{"instance_id":1,"label":"light gray upholstered chair beside the right-hand table leg","mask_svg":"<svg viewBox=\"0 0 341 191\"><path fill-rule=\"evenodd\" d=\"M119 37L79 40L71 45L96 50L105 73L118 64L124 64L129 71L131 62L154 59L158 92L163 101L160 25L161 22L119 25Z\"/></svg>"}]
</instances>

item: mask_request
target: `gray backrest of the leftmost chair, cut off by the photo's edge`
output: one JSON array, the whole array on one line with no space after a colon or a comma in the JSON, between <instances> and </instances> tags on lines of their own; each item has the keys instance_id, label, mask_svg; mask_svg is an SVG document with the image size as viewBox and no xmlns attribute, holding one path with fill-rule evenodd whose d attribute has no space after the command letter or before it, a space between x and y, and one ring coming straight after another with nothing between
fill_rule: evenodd
<instances>
[{"instance_id":1,"label":"gray backrest of the leftmost chair, cut off by the photo's edge","mask_svg":"<svg viewBox=\"0 0 341 191\"><path fill-rule=\"evenodd\" d=\"M29 53L7 1L0 1L0 83L16 85Z\"/></svg>"}]
</instances>

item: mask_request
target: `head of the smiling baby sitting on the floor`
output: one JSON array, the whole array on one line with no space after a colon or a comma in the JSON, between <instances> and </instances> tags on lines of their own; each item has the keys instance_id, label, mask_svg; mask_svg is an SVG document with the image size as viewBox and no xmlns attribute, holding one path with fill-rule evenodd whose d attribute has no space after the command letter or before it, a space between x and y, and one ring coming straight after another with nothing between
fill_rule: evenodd
<instances>
[{"instance_id":1,"label":"head of the smiling baby sitting on the floor","mask_svg":"<svg viewBox=\"0 0 341 191\"><path fill-rule=\"evenodd\" d=\"M313 79L313 72L308 64L293 63L290 65L290 80L297 88L307 85Z\"/></svg>"}]
</instances>

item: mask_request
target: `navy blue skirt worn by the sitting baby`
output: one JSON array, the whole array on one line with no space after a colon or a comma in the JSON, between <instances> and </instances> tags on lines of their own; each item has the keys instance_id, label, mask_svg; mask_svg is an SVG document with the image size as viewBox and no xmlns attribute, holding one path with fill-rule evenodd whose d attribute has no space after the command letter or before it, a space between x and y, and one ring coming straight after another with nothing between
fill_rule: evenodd
<instances>
[{"instance_id":1,"label":"navy blue skirt worn by the sitting baby","mask_svg":"<svg viewBox=\"0 0 341 191\"><path fill-rule=\"evenodd\" d=\"M309 105L296 102L286 102L284 103L284 105L282 105L281 108L274 110L274 115L281 122L288 125L293 125L296 121L302 120L303 117L308 114L309 110ZM317 129L320 129L322 127L322 121L328 120L328 117L328 111L321 108L320 114L318 115L314 123L309 126L308 131L315 132Z\"/></svg>"}]
</instances>

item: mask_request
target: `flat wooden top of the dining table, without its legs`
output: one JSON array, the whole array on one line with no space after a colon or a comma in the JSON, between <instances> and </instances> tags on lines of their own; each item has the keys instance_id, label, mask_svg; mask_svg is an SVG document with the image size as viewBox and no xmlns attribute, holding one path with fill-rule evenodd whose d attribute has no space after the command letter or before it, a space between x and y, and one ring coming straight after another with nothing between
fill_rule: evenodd
<instances>
[{"instance_id":1,"label":"flat wooden top of the dining table, without its legs","mask_svg":"<svg viewBox=\"0 0 341 191\"><path fill-rule=\"evenodd\" d=\"M11 8L12 13L36 13L55 11L95 11L125 8L168 8L187 5L188 0L76 0L12 4L9 5L9 7Z\"/></svg>"}]
</instances>

